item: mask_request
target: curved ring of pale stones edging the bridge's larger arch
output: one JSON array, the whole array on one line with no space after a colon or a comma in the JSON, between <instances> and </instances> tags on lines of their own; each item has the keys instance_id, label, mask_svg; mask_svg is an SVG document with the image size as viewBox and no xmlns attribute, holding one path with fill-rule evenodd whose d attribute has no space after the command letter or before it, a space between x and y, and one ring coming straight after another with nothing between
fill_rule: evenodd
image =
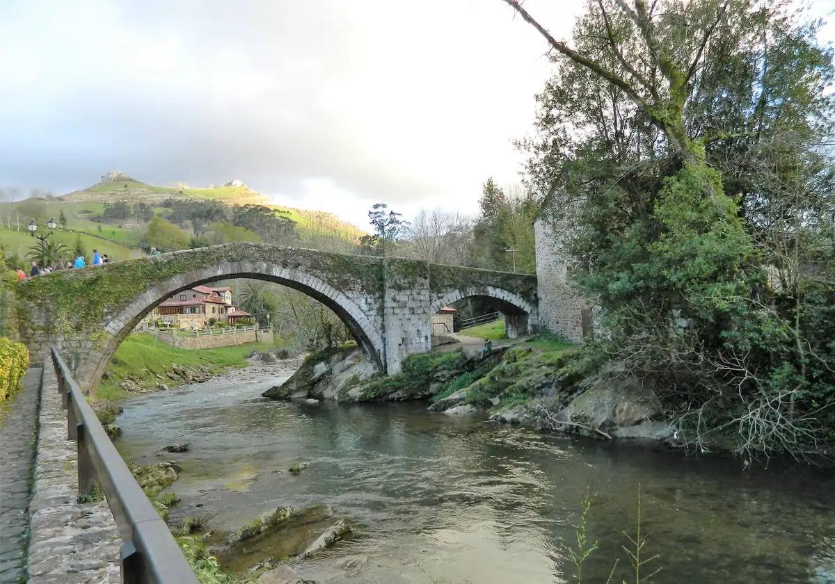
<instances>
[{"instance_id":1,"label":"curved ring of pale stones edging the bridge's larger arch","mask_svg":"<svg viewBox=\"0 0 835 584\"><path fill-rule=\"evenodd\" d=\"M104 370L124 337L163 300L196 285L233 278L261 279L286 285L318 300L342 319L369 358L381 370L384 369L385 349L382 335L372 322L373 315L369 314L369 303L362 303L366 305L366 310L363 310L351 296L304 269L252 261L222 261L211 267L176 274L154 283L135 296L129 305L119 310L104 324L104 331L108 334L107 340L98 351L91 351L88 360L79 364L78 379L83 380L85 389L93 389L104 375Z\"/></svg>"}]
</instances>

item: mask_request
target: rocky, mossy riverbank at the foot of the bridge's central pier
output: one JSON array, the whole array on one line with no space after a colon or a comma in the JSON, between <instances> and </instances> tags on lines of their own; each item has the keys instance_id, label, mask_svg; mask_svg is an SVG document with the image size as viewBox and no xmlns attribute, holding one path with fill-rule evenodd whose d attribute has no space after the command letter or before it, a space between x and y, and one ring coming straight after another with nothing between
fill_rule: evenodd
<instances>
[{"instance_id":1,"label":"rocky, mossy riverbank at the foot of the bridge's central pier","mask_svg":"<svg viewBox=\"0 0 835 584\"><path fill-rule=\"evenodd\" d=\"M340 402L428 400L447 415L483 412L490 420L604 437L665 440L673 434L647 382L618 375L587 378L574 345L539 337L410 355L397 375L377 375L355 347L309 355L274 400ZM478 348L478 347L477 347Z\"/></svg>"}]
</instances>

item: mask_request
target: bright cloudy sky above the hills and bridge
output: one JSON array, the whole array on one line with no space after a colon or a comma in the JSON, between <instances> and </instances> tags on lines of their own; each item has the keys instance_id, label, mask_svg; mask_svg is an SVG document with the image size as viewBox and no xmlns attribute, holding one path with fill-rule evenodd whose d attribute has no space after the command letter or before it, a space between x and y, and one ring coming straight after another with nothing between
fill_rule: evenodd
<instances>
[{"instance_id":1,"label":"bright cloudy sky above the hills and bridge","mask_svg":"<svg viewBox=\"0 0 835 584\"><path fill-rule=\"evenodd\" d=\"M583 4L526 7L567 37ZM0 0L0 185L118 169L363 227L376 202L473 214L519 179L544 53L499 0Z\"/></svg>"}]
</instances>

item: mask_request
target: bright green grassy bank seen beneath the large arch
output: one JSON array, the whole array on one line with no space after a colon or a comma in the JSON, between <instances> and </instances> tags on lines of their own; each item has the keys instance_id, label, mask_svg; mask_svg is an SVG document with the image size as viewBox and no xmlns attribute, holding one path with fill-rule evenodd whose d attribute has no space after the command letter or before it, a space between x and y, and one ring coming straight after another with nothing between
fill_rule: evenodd
<instances>
[{"instance_id":1,"label":"bright green grassy bank seen beneath the large arch","mask_svg":"<svg viewBox=\"0 0 835 584\"><path fill-rule=\"evenodd\" d=\"M155 340L142 333L130 335L116 350L106 379L101 380L96 395L102 400L121 400L130 394L119 386L124 380L134 380L140 388L152 390L159 383L160 375L165 385L173 387L185 380L171 380L168 374L175 366L189 370L205 369L219 375L235 367L245 367L247 358L255 351L273 349L274 345L247 343L220 347L219 349L180 349Z\"/></svg>"}]
</instances>

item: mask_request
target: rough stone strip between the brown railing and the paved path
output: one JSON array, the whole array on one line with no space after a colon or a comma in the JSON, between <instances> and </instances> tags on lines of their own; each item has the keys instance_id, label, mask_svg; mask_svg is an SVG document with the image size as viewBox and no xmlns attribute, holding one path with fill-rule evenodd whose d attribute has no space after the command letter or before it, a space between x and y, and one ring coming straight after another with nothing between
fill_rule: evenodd
<instances>
[{"instance_id":1,"label":"rough stone strip between the brown railing and the paved path","mask_svg":"<svg viewBox=\"0 0 835 584\"><path fill-rule=\"evenodd\" d=\"M121 540L105 501L78 504L75 442L67 439L52 367L43 373L31 512L29 584L117 584Z\"/></svg>"}]
</instances>

